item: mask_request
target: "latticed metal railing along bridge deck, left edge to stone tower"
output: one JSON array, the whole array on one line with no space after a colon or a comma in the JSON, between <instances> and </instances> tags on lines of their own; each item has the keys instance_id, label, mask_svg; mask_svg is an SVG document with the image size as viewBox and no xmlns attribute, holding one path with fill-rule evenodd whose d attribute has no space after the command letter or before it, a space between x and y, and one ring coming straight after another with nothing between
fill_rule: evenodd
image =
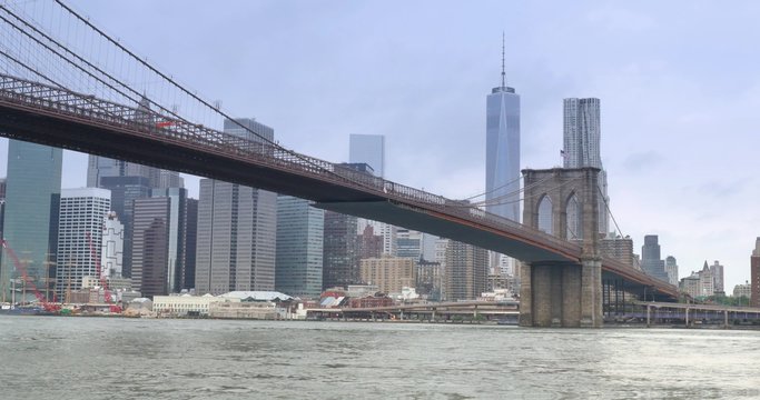
<instances>
[{"instance_id":1,"label":"latticed metal railing along bridge deck, left edge to stone tower","mask_svg":"<svg viewBox=\"0 0 760 400\"><path fill-rule=\"evenodd\" d=\"M476 221L496 230L517 230L524 238L541 243L550 243L569 253L578 253L580 249L580 246L575 243L488 213L464 201L451 200L345 166L300 154L284 149L277 143L250 140L220 132L177 119L174 116L161 114L139 104L137 107L117 104L90 94L77 93L6 74L0 74L0 98L7 102L38 108L48 113L85 119L89 123L105 124L118 130L156 137L185 147L236 157L258 164L316 176L324 181L361 188L398 203Z\"/></svg>"}]
</instances>

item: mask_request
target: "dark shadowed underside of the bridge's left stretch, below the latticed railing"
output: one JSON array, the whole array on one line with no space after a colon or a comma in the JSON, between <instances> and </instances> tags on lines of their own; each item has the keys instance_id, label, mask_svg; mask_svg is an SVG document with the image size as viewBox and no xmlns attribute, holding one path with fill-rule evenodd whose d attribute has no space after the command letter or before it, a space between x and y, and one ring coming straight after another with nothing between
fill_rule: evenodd
<instances>
[{"instance_id":1,"label":"dark shadowed underside of the bridge's left stretch, below the latticed railing","mask_svg":"<svg viewBox=\"0 0 760 400\"><path fill-rule=\"evenodd\" d=\"M314 184L307 174L253 164L225 152L209 152L190 143L170 143L137 136L118 126L62 119L38 109L0 106L0 136L90 154L132 161L199 177L240 183L314 201L379 201L382 197L340 184Z\"/></svg>"}]
</instances>

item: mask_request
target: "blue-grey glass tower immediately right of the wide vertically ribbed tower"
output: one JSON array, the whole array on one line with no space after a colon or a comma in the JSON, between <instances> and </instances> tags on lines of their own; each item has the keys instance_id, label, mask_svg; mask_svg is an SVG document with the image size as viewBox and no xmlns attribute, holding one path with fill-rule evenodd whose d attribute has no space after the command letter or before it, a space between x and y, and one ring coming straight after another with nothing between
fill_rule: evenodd
<instances>
[{"instance_id":1,"label":"blue-grey glass tower immediately right of the wide vertically ribbed tower","mask_svg":"<svg viewBox=\"0 0 760 400\"><path fill-rule=\"evenodd\" d=\"M277 197L275 290L302 298L322 293L325 211L290 196Z\"/></svg>"}]
</instances>

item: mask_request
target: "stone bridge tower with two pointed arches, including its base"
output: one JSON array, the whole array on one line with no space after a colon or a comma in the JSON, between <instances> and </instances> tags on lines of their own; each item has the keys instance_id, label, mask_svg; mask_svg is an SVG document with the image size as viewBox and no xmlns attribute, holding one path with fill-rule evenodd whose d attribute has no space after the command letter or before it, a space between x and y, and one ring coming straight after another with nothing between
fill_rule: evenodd
<instances>
[{"instance_id":1,"label":"stone bridge tower with two pointed arches, including its base","mask_svg":"<svg viewBox=\"0 0 760 400\"><path fill-rule=\"evenodd\" d=\"M599 250L600 169L523 170L523 222L570 241L583 251L580 263L522 263L520 324L602 326L602 258Z\"/></svg>"}]
</instances>

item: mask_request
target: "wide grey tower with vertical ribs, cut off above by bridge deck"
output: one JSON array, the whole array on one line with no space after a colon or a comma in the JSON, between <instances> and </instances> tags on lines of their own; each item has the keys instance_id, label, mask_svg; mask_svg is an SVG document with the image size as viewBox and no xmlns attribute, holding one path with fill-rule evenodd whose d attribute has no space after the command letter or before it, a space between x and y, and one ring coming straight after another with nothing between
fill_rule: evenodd
<instances>
[{"instance_id":1,"label":"wide grey tower with vertical ribs, cut off above by bridge deck","mask_svg":"<svg viewBox=\"0 0 760 400\"><path fill-rule=\"evenodd\" d=\"M275 289L277 194L201 179L197 229L198 293Z\"/></svg>"}]
</instances>

